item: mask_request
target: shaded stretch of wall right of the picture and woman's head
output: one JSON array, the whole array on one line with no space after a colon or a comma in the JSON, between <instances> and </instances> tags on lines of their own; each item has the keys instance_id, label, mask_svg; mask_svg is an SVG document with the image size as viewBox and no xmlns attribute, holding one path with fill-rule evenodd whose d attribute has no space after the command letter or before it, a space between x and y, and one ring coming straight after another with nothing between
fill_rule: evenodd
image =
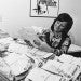
<instances>
[{"instance_id":1,"label":"shaded stretch of wall right of the picture and woman's head","mask_svg":"<svg viewBox=\"0 0 81 81\"><path fill-rule=\"evenodd\" d=\"M75 43L81 45L81 0L60 0L60 11L69 13L73 18L71 33L75 38Z\"/></svg>"}]
</instances>

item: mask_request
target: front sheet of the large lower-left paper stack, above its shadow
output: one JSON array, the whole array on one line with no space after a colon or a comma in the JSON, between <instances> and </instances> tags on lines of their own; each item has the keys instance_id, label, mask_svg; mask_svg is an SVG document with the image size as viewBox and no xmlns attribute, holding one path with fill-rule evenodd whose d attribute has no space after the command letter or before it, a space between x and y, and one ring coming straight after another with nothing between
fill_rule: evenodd
<instances>
[{"instance_id":1,"label":"front sheet of the large lower-left paper stack, above its shadow","mask_svg":"<svg viewBox=\"0 0 81 81\"><path fill-rule=\"evenodd\" d=\"M24 71L27 71L30 66L31 65L27 60L19 59L15 62L14 64L12 64L10 67L11 67L12 72L15 76L17 76L19 73L23 73Z\"/></svg>"}]
</instances>

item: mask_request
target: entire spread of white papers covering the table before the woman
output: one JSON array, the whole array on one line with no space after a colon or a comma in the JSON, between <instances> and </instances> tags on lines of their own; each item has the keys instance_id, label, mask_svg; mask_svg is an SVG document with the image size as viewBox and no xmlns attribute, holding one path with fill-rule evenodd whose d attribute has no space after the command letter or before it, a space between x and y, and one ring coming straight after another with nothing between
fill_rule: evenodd
<instances>
[{"instance_id":1,"label":"entire spread of white papers covering the table before the woman","mask_svg":"<svg viewBox=\"0 0 81 81\"><path fill-rule=\"evenodd\" d=\"M32 37L33 39L36 38ZM25 81L76 81L81 73L80 57L66 54L58 57L53 53L28 46L22 39L0 39L0 72L11 81L27 70ZM54 59L49 59L52 55Z\"/></svg>"}]
</instances>

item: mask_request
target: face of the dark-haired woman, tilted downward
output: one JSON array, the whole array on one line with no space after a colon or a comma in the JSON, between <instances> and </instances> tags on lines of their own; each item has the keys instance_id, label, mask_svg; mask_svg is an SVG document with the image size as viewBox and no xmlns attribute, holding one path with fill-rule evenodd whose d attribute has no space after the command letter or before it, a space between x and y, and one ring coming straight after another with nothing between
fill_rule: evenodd
<instances>
[{"instance_id":1,"label":"face of the dark-haired woman, tilted downward","mask_svg":"<svg viewBox=\"0 0 81 81\"><path fill-rule=\"evenodd\" d=\"M63 29L67 27L66 25L67 25L67 22L56 21L54 24L54 31L62 32Z\"/></svg>"}]
</instances>

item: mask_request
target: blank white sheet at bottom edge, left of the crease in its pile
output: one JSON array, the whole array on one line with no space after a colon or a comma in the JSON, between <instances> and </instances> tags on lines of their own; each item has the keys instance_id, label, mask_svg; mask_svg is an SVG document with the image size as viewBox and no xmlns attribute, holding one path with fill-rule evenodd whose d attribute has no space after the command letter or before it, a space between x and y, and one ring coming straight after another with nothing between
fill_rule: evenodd
<instances>
[{"instance_id":1,"label":"blank white sheet at bottom edge, left of the crease in its pile","mask_svg":"<svg viewBox=\"0 0 81 81\"><path fill-rule=\"evenodd\" d=\"M42 70L41 68L33 68L30 73L27 76L28 79L31 79L32 81L44 81L46 77L49 77L51 73Z\"/></svg>"}]
</instances>

